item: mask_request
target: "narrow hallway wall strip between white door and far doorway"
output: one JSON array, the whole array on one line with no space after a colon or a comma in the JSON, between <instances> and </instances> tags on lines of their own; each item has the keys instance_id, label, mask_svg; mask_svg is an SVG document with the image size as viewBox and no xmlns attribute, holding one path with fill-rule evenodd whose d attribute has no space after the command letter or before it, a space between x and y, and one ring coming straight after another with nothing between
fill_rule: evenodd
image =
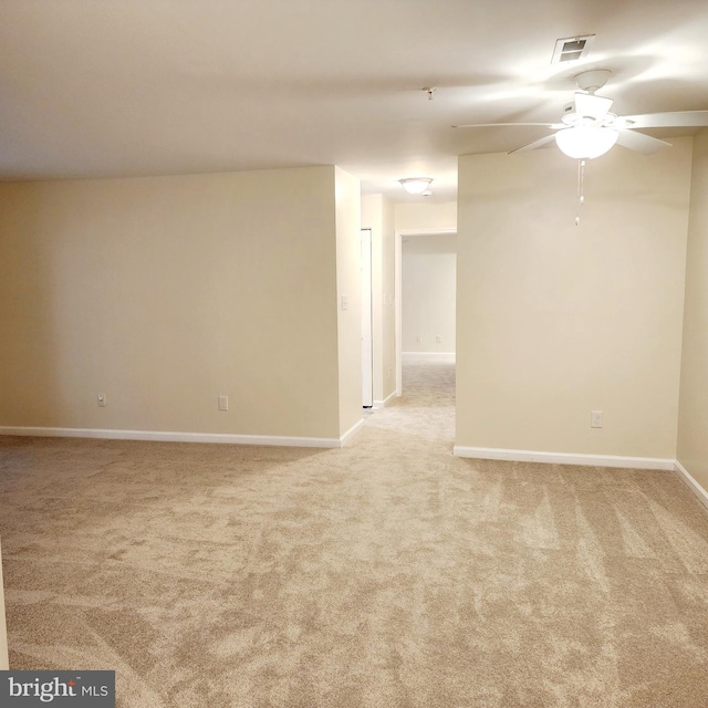
<instances>
[{"instance_id":1,"label":"narrow hallway wall strip between white door and far doorway","mask_svg":"<svg viewBox=\"0 0 708 708\"><path fill-rule=\"evenodd\" d=\"M362 228L372 230L374 405L396 388L394 223L394 205L386 197L362 197Z\"/></svg>"}]
</instances>

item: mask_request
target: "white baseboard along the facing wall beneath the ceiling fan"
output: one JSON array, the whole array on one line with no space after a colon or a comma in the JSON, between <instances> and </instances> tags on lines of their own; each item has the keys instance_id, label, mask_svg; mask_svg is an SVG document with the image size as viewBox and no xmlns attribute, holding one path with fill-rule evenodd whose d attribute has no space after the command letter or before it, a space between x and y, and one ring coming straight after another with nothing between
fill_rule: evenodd
<instances>
[{"instance_id":1,"label":"white baseboard along the facing wall beneath the ceiling fan","mask_svg":"<svg viewBox=\"0 0 708 708\"><path fill-rule=\"evenodd\" d=\"M496 447L462 447L456 445L454 455L488 460L512 462L551 462L555 465L590 465L593 467L624 467L663 469L673 471L675 460L660 457L621 457L617 455L573 455L569 452L542 452L537 450L508 450Z\"/></svg>"}]
</instances>

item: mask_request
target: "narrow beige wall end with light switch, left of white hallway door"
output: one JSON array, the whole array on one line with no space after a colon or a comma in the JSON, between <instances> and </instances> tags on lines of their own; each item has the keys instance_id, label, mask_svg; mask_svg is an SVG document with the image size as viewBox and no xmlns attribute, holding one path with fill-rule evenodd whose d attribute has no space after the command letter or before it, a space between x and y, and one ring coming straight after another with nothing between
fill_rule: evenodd
<instances>
[{"instance_id":1,"label":"narrow beige wall end with light switch, left of white hallway door","mask_svg":"<svg viewBox=\"0 0 708 708\"><path fill-rule=\"evenodd\" d=\"M362 202L358 179L339 167L335 179L340 437L363 419Z\"/></svg>"}]
</instances>

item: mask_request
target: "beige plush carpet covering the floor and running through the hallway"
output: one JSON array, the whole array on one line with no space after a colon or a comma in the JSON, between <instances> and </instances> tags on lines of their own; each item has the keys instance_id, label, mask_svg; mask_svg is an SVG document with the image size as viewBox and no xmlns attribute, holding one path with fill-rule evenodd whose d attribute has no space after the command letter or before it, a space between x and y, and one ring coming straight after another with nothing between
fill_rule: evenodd
<instances>
[{"instance_id":1,"label":"beige plush carpet covering the floor and running through the hallway","mask_svg":"<svg viewBox=\"0 0 708 708\"><path fill-rule=\"evenodd\" d=\"M122 707L708 705L673 473L456 459L454 367L342 450L0 439L14 669Z\"/></svg>"}]
</instances>

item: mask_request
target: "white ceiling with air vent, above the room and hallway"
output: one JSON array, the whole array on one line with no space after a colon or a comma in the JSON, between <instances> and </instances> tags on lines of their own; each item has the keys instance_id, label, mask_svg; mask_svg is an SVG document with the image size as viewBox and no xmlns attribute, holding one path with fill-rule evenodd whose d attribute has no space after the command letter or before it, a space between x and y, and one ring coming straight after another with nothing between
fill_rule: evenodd
<instances>
[{"instance_id":1,"label":"white ceiling with air vent, above the room and hallway","mask_svg":"<svg viewBox=\"0 0 708 708\"><path fill-rule=\"evenodd\" d=\"M458 155L545 128L454 124L558 121L591 67L617 113L707 110L707 0L0 0L0 178L335 164L455 199Z\"/></svg>"}]
</instances>

